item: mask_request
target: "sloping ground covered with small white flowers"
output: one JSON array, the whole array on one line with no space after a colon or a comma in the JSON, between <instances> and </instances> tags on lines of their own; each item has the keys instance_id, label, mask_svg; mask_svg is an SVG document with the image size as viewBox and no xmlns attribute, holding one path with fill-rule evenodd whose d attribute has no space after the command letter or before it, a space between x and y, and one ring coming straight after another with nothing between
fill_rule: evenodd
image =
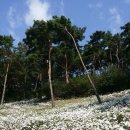
<instances>
[{"instance_id":1,"label":"sloping ground covered with small white flowers","mask_svg":"<svg viewBox=\"0 0 130 130\"><path fill-rule=\"evenodd\" d=\"M130 130L130 90L96 97L7 103L0 108L0 130Z\"/></svg>"}]
</instances>

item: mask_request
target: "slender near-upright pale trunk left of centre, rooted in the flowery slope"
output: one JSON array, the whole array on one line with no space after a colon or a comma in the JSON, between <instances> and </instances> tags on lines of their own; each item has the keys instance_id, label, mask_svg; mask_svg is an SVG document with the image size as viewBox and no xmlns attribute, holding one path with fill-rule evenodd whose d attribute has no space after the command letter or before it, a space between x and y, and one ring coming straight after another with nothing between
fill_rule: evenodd
<instances>
[{"instance_id":1,"label":"slender near-upright pale trunk left of centre, rooted in the flowery slope","mask_svg":"<svg viewBox=\"0 0 130 130\"><path fill-rule=\"evenodd\" d=\"M55 107L54 103L54 94L53 94L53 88L52 88L52 81L51 81L51 51L52 48L49 49L49 59L48 59L48 77L49 77L49 86L50 86L50 92L51 92L51 102L52 102L52 108Z\"/></svg>"}]
</instances>

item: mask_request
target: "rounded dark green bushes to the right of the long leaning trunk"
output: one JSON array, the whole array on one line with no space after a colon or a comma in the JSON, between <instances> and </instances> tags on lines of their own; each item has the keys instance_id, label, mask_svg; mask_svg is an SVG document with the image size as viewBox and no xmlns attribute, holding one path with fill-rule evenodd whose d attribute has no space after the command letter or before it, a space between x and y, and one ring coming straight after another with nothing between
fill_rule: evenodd
<instances>
[{"instance_id":1,"label":"rounded dark green bushes to the right of the long leaning trunk","mask_svg":"<svg viewBox=\"0 0 130 130\"><path fill-rule=\"evenodd\" d=\"M122 70L117 66L109 66L96 77L96 86L100 94L121 91L129 88L128 70Z\"/></svg>"}]
</instances>

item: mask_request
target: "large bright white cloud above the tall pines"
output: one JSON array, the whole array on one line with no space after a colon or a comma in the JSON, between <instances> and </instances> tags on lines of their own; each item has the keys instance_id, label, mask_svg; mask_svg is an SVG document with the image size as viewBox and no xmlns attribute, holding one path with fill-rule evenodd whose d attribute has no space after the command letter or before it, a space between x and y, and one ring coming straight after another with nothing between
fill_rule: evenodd
<instances>
[{"instance_id":1,"label":"large bright white cloud above the tall pines","mask_svg":"<svg viewBox=\"0 0 130 130\"><path fill-rule=\"evenodd\" d=\"M47 1L41 0L27 0L28 12L25 14L25 23L28 26L33 24L33 20L49 20L51 14L49 13L50 4Z\"/></svg>"}]
</instances>

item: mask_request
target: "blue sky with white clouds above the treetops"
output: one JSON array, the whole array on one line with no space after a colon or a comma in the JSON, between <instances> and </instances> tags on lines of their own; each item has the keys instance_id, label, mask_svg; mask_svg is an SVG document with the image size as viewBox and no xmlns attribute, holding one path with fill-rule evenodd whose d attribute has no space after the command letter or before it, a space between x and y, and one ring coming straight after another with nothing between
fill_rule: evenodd
<instances>
[{"instance_id":1,"label":"blue sky with white clouds above the treetops","mask_svg":"<svg viewBox=\"0 0 130 130\"><path fill-rule=\"evenodd\" d=\"M16 45L34 19L65 15L73 24L87 27L84 44L96 30L119 32L130 22L129 12L130 0L0 0L0 35L11 34Z\"/></svg>"}]
</instances>

